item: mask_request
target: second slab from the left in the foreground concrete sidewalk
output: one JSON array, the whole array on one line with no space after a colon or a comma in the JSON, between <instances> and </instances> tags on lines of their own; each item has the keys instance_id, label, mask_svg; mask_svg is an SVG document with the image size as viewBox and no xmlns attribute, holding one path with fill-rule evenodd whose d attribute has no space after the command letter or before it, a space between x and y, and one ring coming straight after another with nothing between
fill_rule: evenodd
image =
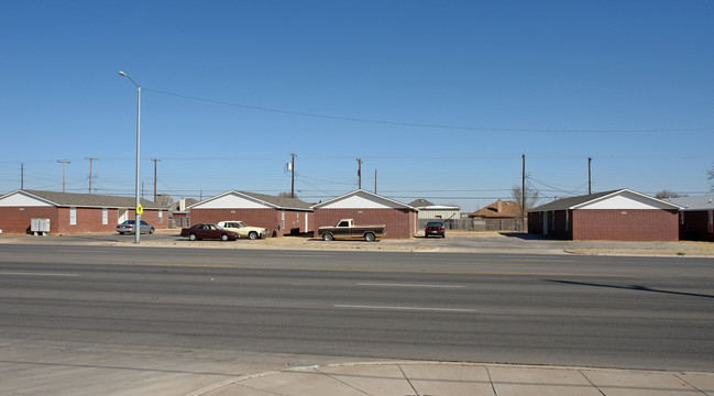
<instances>
[{"instance_id":1,"label":"second slab from the left in the foreground concrete sidewalk","mask_svg":"<svg viewBox=\"0 0 714 396\"><path fill-rule=\"evenodd\" d=\"M371 396L416 395L397 364L326 366L320 367L319 371L361 391L361 396L364 394Z\"/></svg>"}]
</instances>

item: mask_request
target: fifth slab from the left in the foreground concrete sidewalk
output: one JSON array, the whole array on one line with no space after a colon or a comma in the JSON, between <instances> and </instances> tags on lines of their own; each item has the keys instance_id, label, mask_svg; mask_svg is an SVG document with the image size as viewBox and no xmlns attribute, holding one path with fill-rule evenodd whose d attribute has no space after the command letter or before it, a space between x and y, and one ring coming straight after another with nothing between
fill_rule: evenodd
<instances>
[{"instance_id":1,"label":"fifth slab from the left in the foreground concrete sidewalk","mask_svg":"<svg viewBox=\"0 0 714 396\"><path fill-rule=\"evenodd\" d=\"M582 370L607 396L688 396L702 394L672 373Z\"/></svg>"}]
</instances>

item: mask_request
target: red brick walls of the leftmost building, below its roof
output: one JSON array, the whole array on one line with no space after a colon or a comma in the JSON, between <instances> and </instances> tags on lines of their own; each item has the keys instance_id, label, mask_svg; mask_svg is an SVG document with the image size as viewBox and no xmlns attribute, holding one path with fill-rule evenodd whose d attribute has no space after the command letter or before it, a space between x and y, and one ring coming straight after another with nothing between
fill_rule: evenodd
<instances>
[{"instance_id":1,"label":"red brick walls of the leftmost building, below its roof","mask_svg":"<svg viewBox=\"0 0 714 396\"><path fill-rule=\"evenodd\" d=\"M50 219L51 234L116 232L119 222L119 210L107 210L107 224L101 223L102 208L77 208L77 224L69 224L69 207L2 207L0 208L0 229L3 233L24 234L33 218ZM145 209L142 220L155 229L167 228L168 211L164 211L164 222L158 223L158 211ZM130 210L128 219L134 219Z\"/></svg>"}]
</instances>

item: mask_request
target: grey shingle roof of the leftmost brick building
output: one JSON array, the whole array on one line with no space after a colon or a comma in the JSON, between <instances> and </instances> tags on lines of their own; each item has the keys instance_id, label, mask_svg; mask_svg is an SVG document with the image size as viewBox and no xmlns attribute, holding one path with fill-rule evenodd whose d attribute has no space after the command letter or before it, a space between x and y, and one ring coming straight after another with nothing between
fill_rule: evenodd
<instances>
[{"instance_id":1,"label":"grey shingle roof of the leftmost brick building","mask_svg":"<svg viewBox=\"0 0 714 396\"><path fill-rule=\"evenodd\" d=\"M57 207L84 207L84 208L128 208L134 209L136 198L105 196L98 194L56 193L41 190L14 190L0 197L4 199L12 195L23 195L44 201L47 205ZM162 209L160 204L141 199L144 209Z\"/></svg>"}]
</instances>

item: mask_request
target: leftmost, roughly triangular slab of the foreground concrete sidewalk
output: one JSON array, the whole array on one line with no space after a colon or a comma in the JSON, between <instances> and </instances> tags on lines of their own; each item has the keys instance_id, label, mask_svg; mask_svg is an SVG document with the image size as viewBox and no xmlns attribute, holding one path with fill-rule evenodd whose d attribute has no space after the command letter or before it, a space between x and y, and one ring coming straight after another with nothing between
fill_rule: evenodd
<instances>
[{"instance_id":1,"label":"leftmost, roughly triangular slab of the foreground concrete sidewalk","mask_svg":"<svg viewBox=\"0 0 714 396\"><path fill-rule=\"evenodd\" d=\"M251 393L245 393L245 388L265 392L270 395L283 396L364 396L364 393L322 374L315 369L285 371L273 375L249 378L242 381L240 387L237 388L237 391L244 393L226 393L226 395L251 395ZM265 394L255 393L255 395Z\"/></svg>"}]
</instances>

